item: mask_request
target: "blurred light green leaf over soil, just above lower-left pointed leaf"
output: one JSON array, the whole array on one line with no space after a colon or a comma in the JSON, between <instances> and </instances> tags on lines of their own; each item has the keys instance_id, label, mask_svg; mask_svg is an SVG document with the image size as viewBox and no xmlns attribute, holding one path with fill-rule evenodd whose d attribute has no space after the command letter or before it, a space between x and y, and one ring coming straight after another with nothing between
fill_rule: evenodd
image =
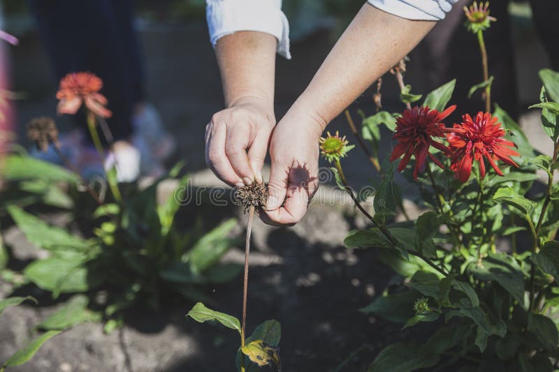
<instances>
[{"instance_id":1,"label":"blurred light green leaf over soil, just above lower-left pointed leaf","mask_svg":"<svg viewBox=\"0 0 559 372\"><path fill-rule=\"evenodd\" d=\"M61 306L55 313L40 322L37 327L44 330L59 330L71 328L82 322L101 320L101 314L87 308L89 299L85 295L75 295Z\"/></svg>"}]
</instances>

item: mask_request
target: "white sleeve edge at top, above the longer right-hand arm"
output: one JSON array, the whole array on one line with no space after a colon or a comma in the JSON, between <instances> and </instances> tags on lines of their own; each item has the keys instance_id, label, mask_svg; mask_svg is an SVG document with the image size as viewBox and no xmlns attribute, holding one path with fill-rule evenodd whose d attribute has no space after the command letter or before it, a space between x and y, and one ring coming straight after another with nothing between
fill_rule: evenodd
<instances>
[{"instance_id":1,"label":"white sleeve edge at top, above the longer right-hand arm","mask_svg":"<svg viewBox=\"0 0 559 372\"><path fill-rule=\"evenodd\" d=\"M386 13L408 20L439 21L458 0L368 0L372 6Z\"/></svg>"}]
</instances>

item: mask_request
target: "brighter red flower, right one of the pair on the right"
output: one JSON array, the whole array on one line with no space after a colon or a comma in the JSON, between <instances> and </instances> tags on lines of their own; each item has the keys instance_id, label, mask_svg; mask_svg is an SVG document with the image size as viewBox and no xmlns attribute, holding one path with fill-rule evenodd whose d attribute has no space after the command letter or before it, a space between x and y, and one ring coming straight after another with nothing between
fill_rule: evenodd
<instances>
[{"instance_id":1,"label":"brighter red flower, right one of the pair on the right","mask_svg":"<svg viewBox=\"0 0 559 372\"><path fill-rule=\"evenodd\" d=\"M481 178L484 178L484 157L500 176L503 174L495 161L500 160L518 167L510 156L520 154L511 149L511 147L516 147L516 144L505 140L505 134L506 132L497 122L497 118L491 117L489 112L478 112L475 120L469 114L463 115L462 123L454 124L452 132L447 135L453 151L450 168L456 172L456 178L461 182L467 181L470 178L474 161L479 163L479 172Z\"/></svg>"}]
</instances>

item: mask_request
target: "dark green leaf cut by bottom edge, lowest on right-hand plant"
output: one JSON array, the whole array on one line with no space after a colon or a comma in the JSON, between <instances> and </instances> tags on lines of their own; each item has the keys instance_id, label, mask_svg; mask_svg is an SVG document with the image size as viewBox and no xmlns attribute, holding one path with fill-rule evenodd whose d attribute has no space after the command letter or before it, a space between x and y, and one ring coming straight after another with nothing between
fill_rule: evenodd
<instances>
[{"instance_id":1,"label":"dark green leaf cut by bottom edge, lowest on right-hand plant","mask_svg":"<svg viewBox=\"0 0 559 372\"><path fill-rule=\"evenodd\" d=\"M395 343L384 348L368 372L410 372L435 366L439 356L424 346Z\"/></svg>"}]
</instances>

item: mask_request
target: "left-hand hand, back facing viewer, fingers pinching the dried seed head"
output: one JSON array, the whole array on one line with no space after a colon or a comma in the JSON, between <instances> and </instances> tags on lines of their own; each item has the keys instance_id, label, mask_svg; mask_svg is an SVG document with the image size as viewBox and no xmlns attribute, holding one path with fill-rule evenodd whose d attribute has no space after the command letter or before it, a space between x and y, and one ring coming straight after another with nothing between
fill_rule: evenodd
<instances>
[{"instance_id":1,"label":"left-hand hand, back facing viewer, fingers pinching the dried seed head","mask_svg":"<svg viewBox=\"0 0 559 372\"><path fill-rule=\"evenodd\" d=\"M205 163L230 186L262 182L261 169L275 125L271 102L243 97L217 112L205 128Z\"/></svg>"}]
</instances>

